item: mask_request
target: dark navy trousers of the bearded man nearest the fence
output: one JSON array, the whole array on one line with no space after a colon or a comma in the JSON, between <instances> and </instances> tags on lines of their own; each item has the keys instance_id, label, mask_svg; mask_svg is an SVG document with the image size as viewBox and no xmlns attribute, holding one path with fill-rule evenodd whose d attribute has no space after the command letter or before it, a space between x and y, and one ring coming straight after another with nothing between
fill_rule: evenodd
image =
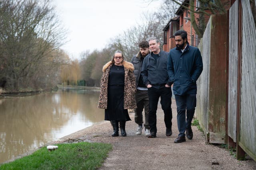
<instances>
[{"instance_id":1,"label":"dark navy trousers of the bearded man nearest the fence","mask_svg":"<svg viewBox=\"0 0 256 170\"><path fill-rule=\"evenodd\" d=\"M196 94L175 95L177 105L177 123L179 136L185 136L186 129L191 129L191 121L196 108ZM187 111L187 119L186 119Z\"/></svg>"}]
</instances>

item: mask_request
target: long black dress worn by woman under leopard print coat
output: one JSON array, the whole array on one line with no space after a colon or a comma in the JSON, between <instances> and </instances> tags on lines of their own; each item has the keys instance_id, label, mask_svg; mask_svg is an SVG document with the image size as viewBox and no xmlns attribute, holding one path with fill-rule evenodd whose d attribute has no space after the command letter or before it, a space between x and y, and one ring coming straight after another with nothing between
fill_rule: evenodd
<instances>
[{"instance_id":1,"label":"long black dress worn by woman under leopard print coat","mask_svg":"<svg viewBox=\"0 0 256 170\"><path fill-rule=\"evenodd\" d=\"M108 76L108 107L105 120L130 121L124 109L124 66L112 65Z\"/></svg>"}]
</instances>

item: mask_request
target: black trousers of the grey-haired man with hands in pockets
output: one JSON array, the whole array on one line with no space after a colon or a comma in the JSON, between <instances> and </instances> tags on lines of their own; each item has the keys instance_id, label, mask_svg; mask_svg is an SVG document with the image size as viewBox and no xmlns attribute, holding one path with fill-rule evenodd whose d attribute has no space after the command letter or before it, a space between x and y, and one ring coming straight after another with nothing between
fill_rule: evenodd
<instances>
[{"instance_id":1,"label":"black trousers of the grey-haired man with hands in pockets","mask_svg":"<svg viewBox=\"0 0 256 170\"><path fill-rule=\"evenodd\" d=\"M148 123L150 126L150 132L157 132L156 129L156 110L158 105L158 100L161 98L161 106L164 111L164 123L167 128L172 127L172 90L171 88L162 87L159 89L148 88L148 97L149 97L149 115Z\"/></svg>"}]
</instances>

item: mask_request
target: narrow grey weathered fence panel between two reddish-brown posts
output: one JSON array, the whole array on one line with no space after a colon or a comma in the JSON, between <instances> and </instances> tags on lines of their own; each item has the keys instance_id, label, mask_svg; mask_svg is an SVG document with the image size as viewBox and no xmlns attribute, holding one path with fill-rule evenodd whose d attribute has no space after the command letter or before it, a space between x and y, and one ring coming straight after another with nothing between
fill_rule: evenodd
<instances>
[{"instance_id":1,"label":"narrow grey weathered fence panel between two reddish-brown posts","mask_svg":"<svg viewBox=\"0 0 256 170\"><path fill-rule=\"evenodd\" d=\"M238 1L229 11L228 60L228 136L236 142L237 78L238 78Z\"/></svg>"}]
</instances>

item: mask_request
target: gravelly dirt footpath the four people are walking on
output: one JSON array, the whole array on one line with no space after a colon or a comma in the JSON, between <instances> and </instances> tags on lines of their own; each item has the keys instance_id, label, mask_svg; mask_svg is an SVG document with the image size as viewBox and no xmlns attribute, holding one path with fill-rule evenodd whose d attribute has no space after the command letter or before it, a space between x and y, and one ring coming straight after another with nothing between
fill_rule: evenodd
<instances>
[{"instance_id":1,"label":"gravelly dirt footpath the four people are walking on","mask_svg":"<svg viewBox=\"0 0 256 170\"><path fill-rule=\"evenodd\" d=\"M174 139L178 136L175 100L172 100L172 114L171 137L165 135L164 113L158 105L156 138L144 136L144 129L142 135L136 135L137 125L134 122L134 113L130 113L132 121L126 123L127 137L121 137L121 135L111 137L112 126L109 121L103 121L63 137L61 141L111 143L113 150L100 168L102 170L256 169L254 160L249 158L246 161L239 161L230 155L228 150L206 144L203 133L195 126L192 126L194 132L192 140L186 139L186 142L174 143Z\"/></svg>"}]
</instances>

